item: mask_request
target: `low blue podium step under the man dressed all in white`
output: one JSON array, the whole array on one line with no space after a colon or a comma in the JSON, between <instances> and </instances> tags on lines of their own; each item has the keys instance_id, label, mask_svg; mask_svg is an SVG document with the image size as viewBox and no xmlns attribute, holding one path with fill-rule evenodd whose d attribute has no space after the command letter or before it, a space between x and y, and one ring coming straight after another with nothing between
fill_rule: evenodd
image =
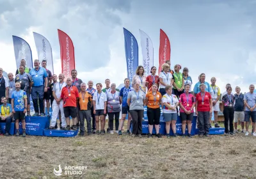
<instances>
[{"instance_id":1,"label":"low blue podium step under the man dressed all in white","mask_svg":"<svg viewBox=\"0 0 256 179\"><path fill-rule=\"evenodd\" d=\"M47 137L75 137L78 134L78 130L52 130L44 129L44 136Z\"/></svg>"}]
</instances>

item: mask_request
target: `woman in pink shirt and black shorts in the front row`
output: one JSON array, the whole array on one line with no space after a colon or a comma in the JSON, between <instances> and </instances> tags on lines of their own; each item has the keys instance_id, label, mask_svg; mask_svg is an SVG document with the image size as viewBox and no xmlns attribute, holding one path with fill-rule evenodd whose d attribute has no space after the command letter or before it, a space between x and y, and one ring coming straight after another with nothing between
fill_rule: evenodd
<instances>
[{"instance_id":1,"label":"woman in pink shirt and black shorts in the front row","mask_svg":"<svg viewBox=\"0 0 256 179\"><path fill-rule=\"evenodd\" d=\"M195 97L189 93L190 85L185 84L185 92L180 95L180 119L182 121L182 136L185 137L186 123L188 124L188 137L191 137L192 120L195 107Z\"/></svg>"}]
</instances>

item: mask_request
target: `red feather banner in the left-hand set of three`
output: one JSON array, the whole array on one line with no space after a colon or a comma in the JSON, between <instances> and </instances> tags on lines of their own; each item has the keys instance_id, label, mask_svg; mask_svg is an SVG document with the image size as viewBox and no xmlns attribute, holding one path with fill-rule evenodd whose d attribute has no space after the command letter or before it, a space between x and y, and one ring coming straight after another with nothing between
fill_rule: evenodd
<instances>
[{"instance_id":1,"label":"red feather banner in the left-hand set of three","mask_svg":"<svg viewBox=\"0 0 256 179\"><path fill-rule=\"evenodd\" d=\"M61 72L65 75L65 79L71 76L71 70L76 69L74 45L71 38L58 29L60 41L60 58L61 58Z\"/></svg>"}]
</instances>

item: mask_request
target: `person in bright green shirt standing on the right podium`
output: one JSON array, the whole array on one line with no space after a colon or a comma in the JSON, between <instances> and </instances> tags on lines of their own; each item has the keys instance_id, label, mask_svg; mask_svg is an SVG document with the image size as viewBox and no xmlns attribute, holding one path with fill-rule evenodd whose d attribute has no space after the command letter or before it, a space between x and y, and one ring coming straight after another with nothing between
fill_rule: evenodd
<instances>
[{"instance_id":1,"label":"person in bright green shirt standing on the right podium","mask_svg":"<svg viewBox=\"0 0 256 179\"><path fill-rule=\"evenodd\" d=\"M173 95L176 97L180 97L182 93L184 93L184 77L180 72L181 66L175 65L174 70L175 73L173 74L174 82L173 82Z\"/></svg>"}]
</instances>

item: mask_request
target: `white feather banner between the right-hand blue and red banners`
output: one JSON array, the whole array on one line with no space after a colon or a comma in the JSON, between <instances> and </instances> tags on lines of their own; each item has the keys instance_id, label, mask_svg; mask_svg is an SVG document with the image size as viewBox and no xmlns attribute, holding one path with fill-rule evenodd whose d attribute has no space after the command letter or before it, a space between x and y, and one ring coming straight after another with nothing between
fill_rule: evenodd
<instances>
[{"instance_id":1,"label":"white feather banner between the right-hand blue and red banners","mask_svg":"<svg viewBox=\"0 0 256 179\"><path fill-rule=\"evenodd\" d=\"M150 75L150 69L154 66L154 48L150 37L140 30L141 52L145 75Z\"/></svg>"}]
</instances>

